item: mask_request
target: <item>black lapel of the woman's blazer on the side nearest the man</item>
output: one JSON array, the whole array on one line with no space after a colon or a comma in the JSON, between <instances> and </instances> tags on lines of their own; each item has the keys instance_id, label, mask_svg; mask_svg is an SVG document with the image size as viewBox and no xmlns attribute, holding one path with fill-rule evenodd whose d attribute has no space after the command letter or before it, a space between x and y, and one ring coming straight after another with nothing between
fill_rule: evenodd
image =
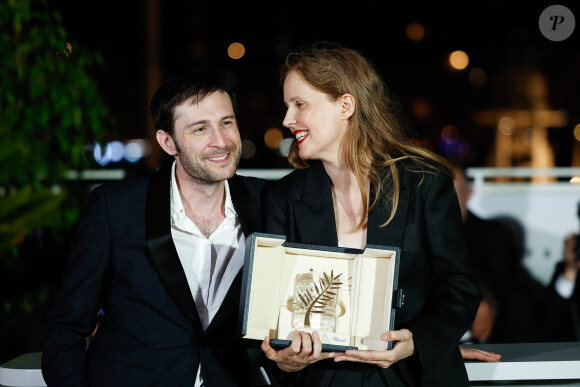
<instances>
[{"instance_id":1,"label":"black lapel of the woman's blazer on the side nearest the man","mask_svg":"<svg viewBox=\"0 0 580 387\"><path fill-rule=\"evenodd\" d=\"M321 162L311 162L306 170L300 200L294 203L297 241L306 244L337 246L338 237L332 204L332 182Z\"/></svg>"}]
</instances>

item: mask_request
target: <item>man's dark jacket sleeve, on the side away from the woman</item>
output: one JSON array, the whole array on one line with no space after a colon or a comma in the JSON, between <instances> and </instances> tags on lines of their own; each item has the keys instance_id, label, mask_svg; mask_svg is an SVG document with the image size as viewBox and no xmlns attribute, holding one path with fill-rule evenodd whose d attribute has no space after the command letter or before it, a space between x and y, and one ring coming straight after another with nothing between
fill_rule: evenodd
<instances>
[{"instance_id":1,"label":"man's dark jacket sleeve, on the side away from the woman","mask_svg":"<svg viewBox=\"0 0 580 387\"><path fill-rule=\"evenodd\" d=\"M79 222L63 284L41 329L42 374L49 386L84 386L86 337L95 327L109 275L109 216L104 194L93 191Z\"/></svg>"}]
</instances>

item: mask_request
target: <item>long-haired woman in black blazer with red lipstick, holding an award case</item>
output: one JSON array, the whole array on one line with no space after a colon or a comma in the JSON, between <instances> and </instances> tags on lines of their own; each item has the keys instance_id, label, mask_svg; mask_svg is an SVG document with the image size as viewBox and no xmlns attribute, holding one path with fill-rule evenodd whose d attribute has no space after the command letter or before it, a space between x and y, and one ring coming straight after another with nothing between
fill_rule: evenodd
<instances>
[{"instance_id":1,"label":"long-haired woman in black blazer with red lipstick, holding an award case","mask_svg":"<svg viewBox=\"0 0 580 387\"><path fill-rule=\"evenodd\" d=\"M381 337L392 350L326 353L316 333L296 332L276 351L266 338L274 382L468 386L457 344L480 294L448 164L406 141L386 86L356 51L310 46L288 56L281 79L298 170L268 190L267 231L298 243L399 246L406 300Z\"/></svg>"}]
</instances>

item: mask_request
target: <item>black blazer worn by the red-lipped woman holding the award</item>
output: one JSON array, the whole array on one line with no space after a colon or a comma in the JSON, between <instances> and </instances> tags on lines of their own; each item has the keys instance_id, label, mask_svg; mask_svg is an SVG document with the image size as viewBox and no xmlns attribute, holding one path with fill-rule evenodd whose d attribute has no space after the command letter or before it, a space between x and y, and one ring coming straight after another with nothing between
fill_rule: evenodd
<instances>
[{"instance_id":1,"label":"black blazer worn by the red-lipped woman holding the award","mask_svg":"<svg viewBox=\"0 0 580 387\"><path fill-rule=\"evenodd\" d=\"M413 333L417 354L386 370L322 361L278 381L293 379L307 386L469 385L457 344L475 317L480 294L453 181L442 171L405 168L400 181L395 218L380 227L388 219L390 202L379 202L369 213L367 243L401 248L399 287L405 305L396 312L395 329ZM282 178L266 197L267 232L292 242L337 246L331 181L320 162Z\"/></svg>"}]
</instances>

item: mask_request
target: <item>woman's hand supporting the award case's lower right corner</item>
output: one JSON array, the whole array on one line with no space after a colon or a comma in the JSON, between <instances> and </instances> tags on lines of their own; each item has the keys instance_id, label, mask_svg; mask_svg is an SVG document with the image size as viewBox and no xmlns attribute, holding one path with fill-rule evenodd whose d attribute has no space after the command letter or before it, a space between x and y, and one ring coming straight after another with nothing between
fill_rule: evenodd
<instances>
[{"instance_id":1,"label":"woman's hand supporting the award case's lower right corner","mask_svg":"<svg viewBox=\"0 0 580 387\"><path fill-rule=\"evenodd\" d=\"M381 340L394 341L395 345L393 346L393 349L384 351L348 350L344 354L336 354L334 361L354 361L375 364L382 368L388 368L393 363L409 357L415 352L413 334L408 329L385 332L381 335Z\"/></svg>"}]
</instances>

